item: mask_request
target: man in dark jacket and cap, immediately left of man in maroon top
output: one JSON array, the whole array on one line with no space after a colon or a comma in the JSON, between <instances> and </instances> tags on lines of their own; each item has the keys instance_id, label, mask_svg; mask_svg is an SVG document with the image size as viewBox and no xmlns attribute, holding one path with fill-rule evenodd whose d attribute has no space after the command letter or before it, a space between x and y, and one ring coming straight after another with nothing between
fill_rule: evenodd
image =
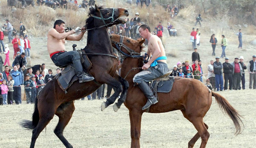
<instances>
[{"instance_id":1,"label":"man in dark jacket and cap, immediately left of man in maroon top","mask_svg":"<svg viewBox=\"0 0 256 148\"><path fill-rule=\"evenodd\" d=\"M229 58L225 58L225 62L222 63L223 65L223 73L224 73L224 90L228 89L228 82L229 82L229 90L232 90L232 79L233 79L233 68L234 66L231 65L231 63L228 62Z\"/></svg>"}]
</instances>

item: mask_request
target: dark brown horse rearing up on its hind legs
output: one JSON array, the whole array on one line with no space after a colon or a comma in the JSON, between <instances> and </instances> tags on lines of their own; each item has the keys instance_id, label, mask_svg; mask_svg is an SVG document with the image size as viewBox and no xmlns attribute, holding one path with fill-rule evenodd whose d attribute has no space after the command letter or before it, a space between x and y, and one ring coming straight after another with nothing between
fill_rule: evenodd
<instances>
[{"instance_id":1,"label":"dark brown horse rearing up on its hind legs","mask_svg":"<svg viewBox=\"0 0 256 148\"><path fill-rule=\"evenodd\" d=\"M74 100L85 97L102 84L106 83L116 88L116 92L104 103L108 106L114 103L118 95L122 92L118 100L118 105L125 101L128 83L116 75L118 60L114 56L111 41L107 27L115 24L125 23L121 16L128 16L128 11L123 8L103 8L90 7L89 18L86 19L85 27L88 29L87 45L83 49L88 55L92 68L89 74L97 81L79 83L75 81L67 90L67 93L61 90L56 79L52 79L39 92L35 101L35 109L32 121L24 120L20 124L27 128L33 129L30 148L35 146L39 134L50 122L54 115L59 117L58 125L54 133L66 146L71 148L72 145L63 136L63 130L68 124L75 110ZM84 59L86 55L83 55ZM115 79L113 78L115 77ZM119 80L119 81L117 81ZM124 86L122 88L122 85Z\"/></svg>"}]
</instances>

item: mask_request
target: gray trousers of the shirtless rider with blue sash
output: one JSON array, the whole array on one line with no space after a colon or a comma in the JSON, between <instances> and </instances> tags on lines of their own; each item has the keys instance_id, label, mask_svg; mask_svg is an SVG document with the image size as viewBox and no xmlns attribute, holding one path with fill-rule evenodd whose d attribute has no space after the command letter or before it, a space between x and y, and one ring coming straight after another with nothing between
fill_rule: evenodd
<instances>
[{"instance_id":1,"label":"gray trousers of the shirtless rider with blue sash","mask_svg":"<svg viewBox=\"0 0 256 148\"><path fill-rule=\"evenodd\" d=\"M133 77L134 83L142 83L143 81L149 82L153 79L156 79L160 76L163 76L168 72L168 66L166 63L163 62L157 62L158 65L154 67L149 67L147 70L143 70L139 73L137 73Z\"/></svg>"}]
</instances>

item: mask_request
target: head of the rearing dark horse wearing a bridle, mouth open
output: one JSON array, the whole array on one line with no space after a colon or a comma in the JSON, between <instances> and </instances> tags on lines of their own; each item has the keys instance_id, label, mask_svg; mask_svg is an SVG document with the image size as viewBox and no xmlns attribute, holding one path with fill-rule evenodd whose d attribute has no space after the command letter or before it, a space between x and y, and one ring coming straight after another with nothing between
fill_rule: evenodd
<instances>
[{"instance_id":1,"label":"head of the rearing dark horse wearing a bridle, mouth open","mask_svg":"<svg viewBox=\"0 0 256 148\"><path fill-rule=\"evenodd\" d=\"M85 26L87 29L104 25L111 27L116 24L124 24L126 21L120 17L129 16L128 11L123 8L103 8L103 6L98 7L95 4L95 7L90 7L89 10L89 18L86 19Z\"/></svg>"}]
</instances>

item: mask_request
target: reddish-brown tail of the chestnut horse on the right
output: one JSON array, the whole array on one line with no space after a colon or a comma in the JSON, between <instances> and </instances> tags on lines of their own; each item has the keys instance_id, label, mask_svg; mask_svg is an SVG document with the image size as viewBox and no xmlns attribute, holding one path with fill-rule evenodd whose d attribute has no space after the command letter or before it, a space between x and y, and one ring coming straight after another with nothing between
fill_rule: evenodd
<instances>
[{"instance_id":1,"label":"reddish-brown tail of the chestnut horse on the right","mask_svg":"<svg viewBox=\"0 0 256 148\"><path fill-rule=\"evenodd\" d=\"M241 124L244 127L244 124L241 120L241 118L243 117L238 113L238 111L234 107L232 107L229 104L229 102L223 96L214 92L212 92L212 96L215 97L216 102L218 103L221 111L223 112L224 110L225 113L232 119L236 128L236 135L241 133L243 131L243 129L241 130Z\"/></svg>"}]
</instances>

